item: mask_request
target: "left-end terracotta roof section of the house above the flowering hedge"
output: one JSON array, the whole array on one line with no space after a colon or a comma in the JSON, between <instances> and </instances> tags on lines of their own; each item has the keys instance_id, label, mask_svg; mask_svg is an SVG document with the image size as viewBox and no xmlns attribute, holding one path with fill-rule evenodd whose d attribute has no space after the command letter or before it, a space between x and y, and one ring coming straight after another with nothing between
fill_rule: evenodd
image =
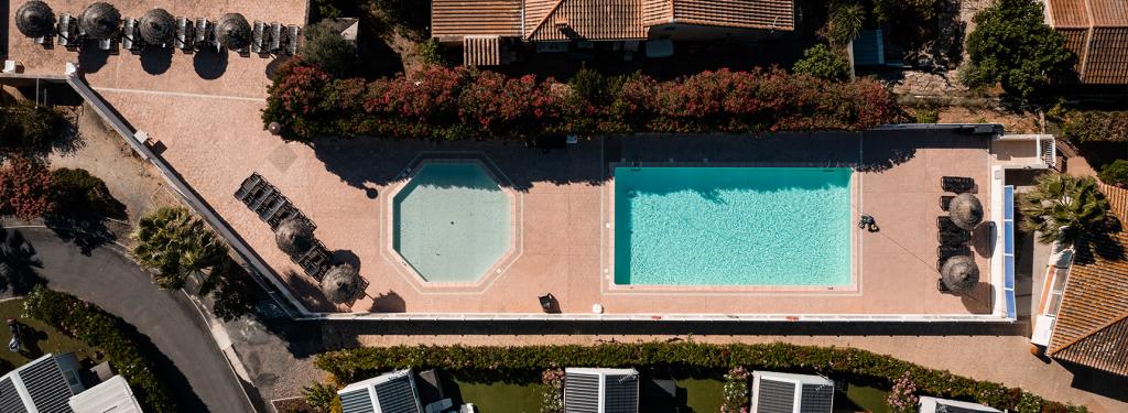
<instances>
[{"instance_id":1,"label":"left-end terracotta roof section of the house above the flowering hedge","mask_svg":"<svg viewBox=\"0 0 1128 413\"><path fill-rule=\"evenodd\" d=\"M433 0L431 35L460 41L473 35L521 35L521 0Z\"/></svg>"}]
</instances>

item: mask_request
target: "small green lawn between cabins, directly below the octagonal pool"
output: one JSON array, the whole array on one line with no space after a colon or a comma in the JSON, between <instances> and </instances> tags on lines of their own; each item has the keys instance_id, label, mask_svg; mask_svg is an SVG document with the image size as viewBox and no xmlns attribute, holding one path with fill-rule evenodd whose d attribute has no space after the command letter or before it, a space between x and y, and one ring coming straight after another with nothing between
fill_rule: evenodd
<instances>
[{"instance_id":1,"label":"small green lawn between cabins, directly below the octagonal pool","mask_svg":"<svg viewBox=\"0 0 1128 413\"><path fill-rule=\"evenodd\" d=\"M457 403L474 403L482 413L538 413L540 385L473 383L443 377L443 392Z\"/></svg>"}]
</instances>

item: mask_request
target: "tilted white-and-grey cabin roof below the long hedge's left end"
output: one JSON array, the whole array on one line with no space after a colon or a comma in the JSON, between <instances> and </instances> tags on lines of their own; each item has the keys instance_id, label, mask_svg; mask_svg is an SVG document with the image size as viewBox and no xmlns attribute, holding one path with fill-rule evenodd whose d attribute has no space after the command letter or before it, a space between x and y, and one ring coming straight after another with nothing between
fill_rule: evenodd
<instances>
[{"instance_id":1,"label":"tilted white-and-grey cabin roof below the long hedge's left end","mask_svg":"<svg viewBox=\"0 0 1128 413\"><path fill-rule=\"evenodd\" d=\"M384 374L337 392L342 413L422 413L412 370Z\"/></svg>"}]
</instances>

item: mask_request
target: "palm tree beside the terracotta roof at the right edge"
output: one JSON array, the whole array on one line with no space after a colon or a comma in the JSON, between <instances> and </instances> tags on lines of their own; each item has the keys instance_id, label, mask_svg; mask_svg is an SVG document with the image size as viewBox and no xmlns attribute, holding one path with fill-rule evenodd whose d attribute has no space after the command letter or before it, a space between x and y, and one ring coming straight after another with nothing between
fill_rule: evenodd
<instances>
[{"instance_id":1,"label":"palm tree beside the terracotta roof at the right edge","mask_svg":"<svg viewBox=\"0 0 1128 413\"><path fill-rule=\"evenodd\" d=\"M1096 179L1066 174L1039 176L1034 188L1019 197L1022 228L1041 232L1042 244L1073 244L1085 232L1107 229L1109 202Z\"/></svg>"}]
</instances>

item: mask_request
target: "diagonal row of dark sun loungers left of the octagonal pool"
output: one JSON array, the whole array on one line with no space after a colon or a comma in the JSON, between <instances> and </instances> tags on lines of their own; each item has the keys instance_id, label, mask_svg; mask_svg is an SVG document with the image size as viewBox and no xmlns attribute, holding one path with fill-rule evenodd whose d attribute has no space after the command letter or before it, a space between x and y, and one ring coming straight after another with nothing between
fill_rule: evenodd
<instances>
[{"instance_id":1,"label":"diagonal row of dark sun loungers left of the octagonal pool","mask_svg":"<svg viewBox=\"0 0 1128 413\"><path fill-rule=\"evenodd\" d=\"M316 228L309 218L258 173L250 174L243 181L243 184L235 192L235 197L258 214L258 219L266 222L272 230L277 229L282 221L290 218L303 220L309 223L310 228ZM306 274L321 281L321 276L329 270L331 257L332 255L325 245L315 239L312 248L300 256L291 257L291 260L300 265Z\"/></svg>"}]
</instances>

